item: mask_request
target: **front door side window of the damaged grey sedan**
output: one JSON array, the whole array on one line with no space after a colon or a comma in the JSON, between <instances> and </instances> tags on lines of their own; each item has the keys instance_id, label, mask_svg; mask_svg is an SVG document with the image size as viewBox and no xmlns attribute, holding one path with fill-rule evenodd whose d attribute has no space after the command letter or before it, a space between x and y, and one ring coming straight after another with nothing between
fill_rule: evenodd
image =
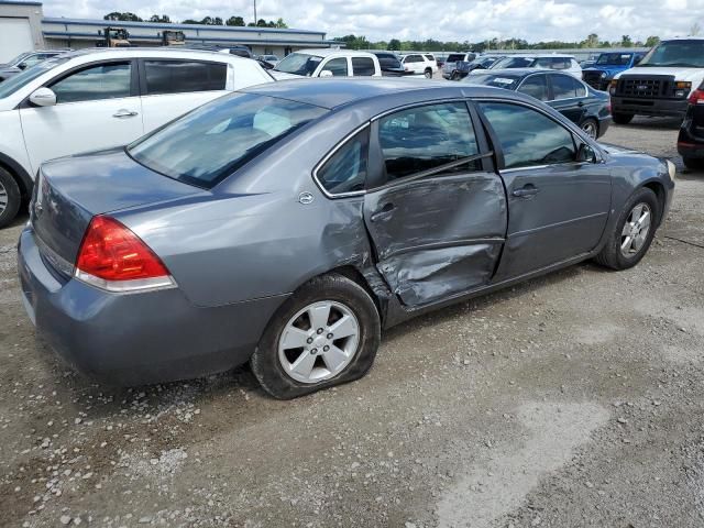
<instances>
[{"instance_id":1,"label":"front door side window of the damaged grey sedan","mask_svg":"<svg viewBox=\"0 0 704 528\"><path fill-rule=\"evenodd\" d=\"M480 103L492 124L506 168L573 162L572 134L550 118L517 105Z\"/></svg>"}]
</instances>

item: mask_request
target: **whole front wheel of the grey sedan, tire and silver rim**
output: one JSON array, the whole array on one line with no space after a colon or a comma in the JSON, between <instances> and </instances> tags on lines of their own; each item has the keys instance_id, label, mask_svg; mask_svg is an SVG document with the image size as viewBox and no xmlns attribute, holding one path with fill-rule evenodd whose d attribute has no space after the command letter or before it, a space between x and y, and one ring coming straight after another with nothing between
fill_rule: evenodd
<instances>
[{"instance_id":1,"label":"whole front wheel of the grey sedan, tire and silver rim","mask_svg":"<svg viewBox=\"0 0 704 528\"><path fill-rule=\"evenodd\" d=\"M640 188L626 202L606 245L596 262L612 270L628 270L644 257L660 219L656 194Z\"/></svg>"}]
</instances>

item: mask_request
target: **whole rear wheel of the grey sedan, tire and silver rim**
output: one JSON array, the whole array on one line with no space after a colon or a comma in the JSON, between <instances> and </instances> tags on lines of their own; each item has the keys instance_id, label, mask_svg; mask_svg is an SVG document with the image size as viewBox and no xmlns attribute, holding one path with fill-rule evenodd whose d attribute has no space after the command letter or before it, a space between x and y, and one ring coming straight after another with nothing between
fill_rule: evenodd
<instances>
[{"instance_id":1,"label":"whole rear wheel of the grey sedan, tire and silver rim","mask_svg":"<svg viewBox=\"0 0 704 528\"><path fill-rule=\"evenodd\" d=\"M284 302L250 364L268 394L290 399L362 377L380 340L370 294L344 276L324 275Z\"/></svg>"}]
</instances>

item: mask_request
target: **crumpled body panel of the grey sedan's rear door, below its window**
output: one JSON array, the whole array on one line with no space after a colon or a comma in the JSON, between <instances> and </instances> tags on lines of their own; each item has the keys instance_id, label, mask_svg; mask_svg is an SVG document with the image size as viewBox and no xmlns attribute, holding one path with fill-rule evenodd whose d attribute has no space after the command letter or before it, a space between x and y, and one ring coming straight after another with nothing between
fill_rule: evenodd
<instances>
[{"instance_id":1,"label":"crumpled body panel of the grey sedan's rear door, below its window","mask_svg":"<svg viewBox=\"0 0 704 528\"><path fill-rule=\"evenodd\" d=\"M399 183L364 200L377 268L406 306L487 284L506 234L506 199L493 173Z\"/></svg>"}]
</instances>

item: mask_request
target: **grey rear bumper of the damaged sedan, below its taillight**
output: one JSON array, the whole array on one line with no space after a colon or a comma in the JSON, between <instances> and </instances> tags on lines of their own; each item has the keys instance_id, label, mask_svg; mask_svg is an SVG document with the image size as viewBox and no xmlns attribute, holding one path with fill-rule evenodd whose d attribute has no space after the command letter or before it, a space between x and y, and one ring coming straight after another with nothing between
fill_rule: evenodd
<instances>
[{"instance_id":1,"label":"grey rear bumper of the damaged sedan, below its taillight","mask_svg":"<svg viewBox=\"0 0 704 528\"><path fill-rule=\"evenodd\" d=\"M199 308L177 288L111 294L62 280L31 228L20 237L18 270L40 336L74 369L117 385L199 377L246 362L286 298Z\"/></svg>"}]
</instances>

